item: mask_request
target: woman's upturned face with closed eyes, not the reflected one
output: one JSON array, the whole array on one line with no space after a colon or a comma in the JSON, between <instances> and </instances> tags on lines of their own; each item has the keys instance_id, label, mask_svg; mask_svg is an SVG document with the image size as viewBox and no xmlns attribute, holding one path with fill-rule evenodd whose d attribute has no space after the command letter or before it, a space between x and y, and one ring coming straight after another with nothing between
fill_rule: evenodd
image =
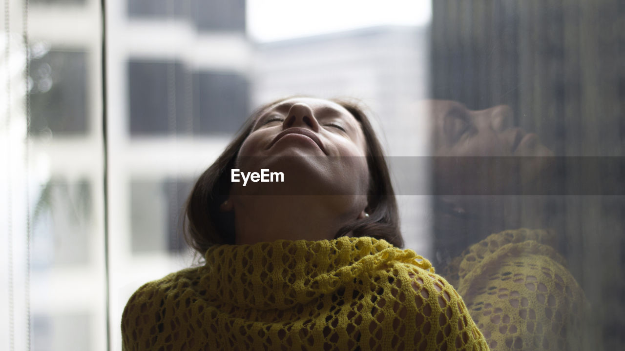
<instances>
[{"instance_id":1,"label":"woman's upturned face with closed eyes, not the reflected one","mask_svg":"<svg viewBox=\"0 0 625 351\"><path fill-rule=\"evenodd\" d=\"M295 195L302 194L299 190L366 195L365 156L366 139L354 116L336 102L306 97L278 102L262 112L239 149L236 165L242 172L284 172L284 182L291 184L284 189Z\"/></svg>"}]
</instances>

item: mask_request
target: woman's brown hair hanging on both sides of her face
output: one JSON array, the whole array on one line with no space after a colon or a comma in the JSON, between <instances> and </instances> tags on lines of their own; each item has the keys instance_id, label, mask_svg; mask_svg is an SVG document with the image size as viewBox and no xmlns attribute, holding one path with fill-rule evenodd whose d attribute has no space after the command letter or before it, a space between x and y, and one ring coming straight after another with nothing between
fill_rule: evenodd
<instances>
[{"instance_id":1,"label":"woman's brown hair hanging on both sides of her face","mask_svg":"<svg viewBox=\"0 0 625 351\"><path fill-rule=\"evenodd\" d=\"M287 97L259 107L243 124L226 150L197 179L186 202L184 239L201 255L216 244L234 244L234 214L221 212L222 202L229 197L231 169L234 168L241 145L249 136L254 122L269 107L293 97ZM370 186L367 194L369 217L353 220L344 225L335 238L353 232L354 237L369 236L384 239L396 247L404 246L399 231L397 202L391 185L382 147L377 140L368 117L357 104L342 99L329 99L349 111L362 127L367 142L367 165Z\"/></svg>"}]
</instances>

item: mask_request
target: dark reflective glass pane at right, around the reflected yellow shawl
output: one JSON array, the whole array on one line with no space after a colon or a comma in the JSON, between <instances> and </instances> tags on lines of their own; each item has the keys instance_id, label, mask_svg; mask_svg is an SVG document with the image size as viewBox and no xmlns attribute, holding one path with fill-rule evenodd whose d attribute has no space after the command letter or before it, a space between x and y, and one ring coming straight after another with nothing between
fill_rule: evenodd
<instances>
[{"instance_id":1,"label":"dark reflective glass pane at right, around the reflected yellow shawl","mask_svg":"<svg viewBox=\"0 0 625 351\"><path fill-rule=\"evenodd\" d=\"M435 262L453 265L491 233L551 230L549 247L564 257L566 274L589 303L569 315L589 315L577 319L581 327L574 320L554 325L561 334L545 334L532 347L612 349L623 342L616 330L624 319L613 307L623 306L625 285L607 268L622 264L625 247L624 72L614 61L622 16L618 1L432 2L432 97L460 102L464 111L439 104L435 114L467 125L441 147L441 156L457 161L445 173L463 177L435 177ZM482 244L492 250L489 238ZM532 294L542 300L540 291Z\"/></svg>"}]
</instances>

